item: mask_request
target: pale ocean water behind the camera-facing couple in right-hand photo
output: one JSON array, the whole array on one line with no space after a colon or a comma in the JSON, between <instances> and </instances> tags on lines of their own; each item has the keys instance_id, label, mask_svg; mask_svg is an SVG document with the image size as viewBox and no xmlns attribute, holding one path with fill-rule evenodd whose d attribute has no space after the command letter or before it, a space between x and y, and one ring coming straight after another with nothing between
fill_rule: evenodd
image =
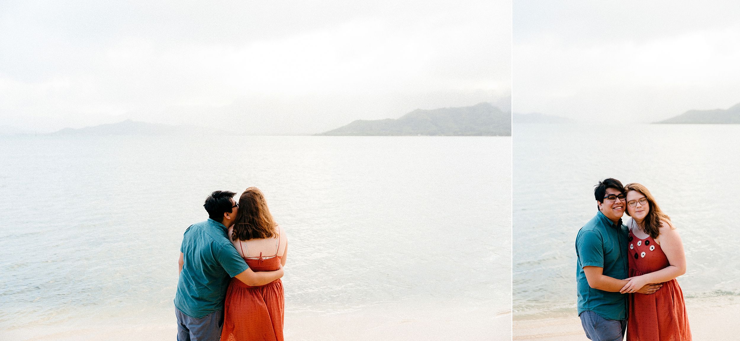
<instances>
[{"instance_id":1,"label":"pale ocean water behind the camera-facing couple in right-hand photo","mask_svg":"<svg viewBox=\"0 0 740 341\"><path fill-rule=\"evenodd\" d=\"M593 186L604 178L642 183L671 217L685 297L740 295L740 125L515 130L514 319L576 314L576 233L596 215Z\"/></svg>"}]
</instances>

